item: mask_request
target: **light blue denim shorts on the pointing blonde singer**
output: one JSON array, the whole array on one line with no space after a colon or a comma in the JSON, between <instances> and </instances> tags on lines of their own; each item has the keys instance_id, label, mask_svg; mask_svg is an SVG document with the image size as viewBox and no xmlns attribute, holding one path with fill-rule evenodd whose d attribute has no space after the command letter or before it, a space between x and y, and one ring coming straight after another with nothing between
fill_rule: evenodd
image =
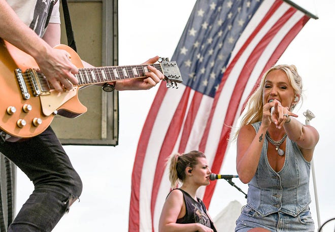
<instances>
[{"instance_id":1,"label":"light blue denim shorts on the pointing blonde singer","mask_svg":"<svg viewBox=\"0 0 335 232\"><path fill-rule=\"evenodd\" d=\"M248 206L244 206L236 221L236 232L246 232L251 228L261 227L271 232L314 232L314 221L307 207L296 217L277 212L265 217Z\"/></svg>"}]
</instances>

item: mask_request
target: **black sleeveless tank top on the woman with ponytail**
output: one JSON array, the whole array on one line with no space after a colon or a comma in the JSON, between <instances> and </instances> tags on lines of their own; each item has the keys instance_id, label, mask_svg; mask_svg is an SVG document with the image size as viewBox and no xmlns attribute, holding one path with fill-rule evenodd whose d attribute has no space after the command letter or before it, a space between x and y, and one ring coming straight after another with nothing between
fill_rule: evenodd
<instances>
[{"instance_id":1,"label":"black sleeveless tank top on the woman with ponytail","mask_svg":"<svg viewBox=\"0 0 335 232\"><path fill-rule=\"evenodd\" d=\"M188 223L200 223L212 228L216 231L213 222L207 215L205 204L197 197L197 202L187 192L180 188L176 188L183 193L184 202L186 206L186 213L184 217L177 219L176 223L188 224ZM176 190L174 189L174 190Z\"/></svg>"}]
</instances>

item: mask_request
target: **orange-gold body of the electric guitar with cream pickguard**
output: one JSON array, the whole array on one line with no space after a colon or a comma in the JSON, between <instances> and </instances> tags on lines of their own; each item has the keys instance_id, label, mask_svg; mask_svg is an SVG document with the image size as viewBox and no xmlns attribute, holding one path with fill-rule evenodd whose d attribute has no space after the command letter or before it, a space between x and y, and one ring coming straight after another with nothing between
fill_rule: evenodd
<instances>
[{"instance_id":1,"label":"orange-gold body of the electric guitar with cream pickguard","mask_svg":"<svg viewBox=\"0 0 335 232\"><path fill-rule=\"evenodd\" d=\"M73 49L65 45L59 45L57 48L68 51L71 54L71 61L78 68L83 67L80 57ZM0 130L6 134L16 138L30 138L41 134L50 125L56 113L74 118L87 111L87 108L79 102L78 86L61 93L48 89L42 94L34 95L32 84L27 81L26 89L30 97L26 99L22 95L16 69L25 72L27 69L39 70L39 67L30 55L6 41L0 41L0 93L2 94ZM23 74L23 79L25 78Z\"/></svg>"}]
</instances>

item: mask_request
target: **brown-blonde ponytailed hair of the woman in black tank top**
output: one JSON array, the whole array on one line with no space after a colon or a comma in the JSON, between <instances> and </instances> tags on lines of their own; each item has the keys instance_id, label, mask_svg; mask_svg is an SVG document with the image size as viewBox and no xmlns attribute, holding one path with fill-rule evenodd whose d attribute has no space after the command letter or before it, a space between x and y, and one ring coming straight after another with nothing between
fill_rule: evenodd
<instances>
[{"instance_id":1,"label":"brown-blonde ponytailed hair of the woman in black tank top","mask_svg":"<svg viewBox=\"0 0 335 232\"><path fill-rule=\"evenodd\" d=\"M199 157L206 158L205 154L200 151L190 151L186 154L174 153L169 157L170 161L170 175L169 179L171 187L176 188L179 184L184 182L186 178L185 170L187 167L194 168L198 163Z\"/></svg>"}]
</instances>

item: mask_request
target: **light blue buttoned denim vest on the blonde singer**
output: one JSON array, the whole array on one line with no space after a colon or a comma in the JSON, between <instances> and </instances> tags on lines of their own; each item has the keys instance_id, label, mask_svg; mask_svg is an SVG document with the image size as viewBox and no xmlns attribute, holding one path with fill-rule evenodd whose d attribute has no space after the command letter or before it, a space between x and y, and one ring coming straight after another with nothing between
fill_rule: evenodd
<instances>
[{"instance_id":1,"label":"light blue buttoned denim vest on the blonde singer","mask_svg":"<svg viewBox=\"0 0 335 232\"><path fill-rule=\"evenodd\" d=\"M252 125L257 131L260 122ZM310 170L311 163L306 161L298 146L287 138L285 162L277 173L267 160L265 138L256 174L248 183L248 206L261 216L282 212L296 217L311 203Z\"/></svg>"}]
</instances>

